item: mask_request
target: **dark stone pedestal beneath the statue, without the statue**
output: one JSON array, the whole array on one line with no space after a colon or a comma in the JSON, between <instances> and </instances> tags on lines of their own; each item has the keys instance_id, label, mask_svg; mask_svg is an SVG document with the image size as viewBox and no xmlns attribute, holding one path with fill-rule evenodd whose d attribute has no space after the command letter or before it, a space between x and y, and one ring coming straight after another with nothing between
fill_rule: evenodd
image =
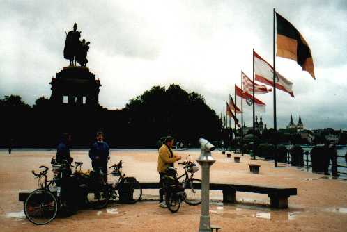
<instances>
[{"instance_id":1,"label":"dark stone pedestal beneath the statue, without the statue","mask_svg":"<svg viewBox=\"0 0 347 232\"><path fill-rule=\"evenodd\" d=\"M88 67L63 67L49 84L52 85L50 100L56 105L99 106L100 81Z\"/></svg>"}]
</instances>

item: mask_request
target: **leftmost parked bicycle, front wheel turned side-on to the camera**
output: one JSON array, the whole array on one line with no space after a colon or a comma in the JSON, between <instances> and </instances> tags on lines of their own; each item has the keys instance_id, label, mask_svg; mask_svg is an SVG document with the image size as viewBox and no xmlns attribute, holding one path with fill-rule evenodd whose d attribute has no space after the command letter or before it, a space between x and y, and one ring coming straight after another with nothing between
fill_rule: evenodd
<instances>
[{"instance_id":1,"label":"leftmost parked bicycle, front wheel turned side-on to the camera","mask_svg":"<svg viewBox=\"0 0 347 232\"><path fill-rule=\"evenodd\" d=\"M61 204L60 193L61 186L56 187L56 196L51 191L52 183L59 181L59 179L53 179L47 181L48 167L40 166L44 168L39 174L31 171L31 173L38 178L39 189L31 192L26 198L24 203L24 213L30 222L37 225L48 224L56 217L59 206ZM42 178L45 178L42 181Z\"/></svg>"}]
</instances>

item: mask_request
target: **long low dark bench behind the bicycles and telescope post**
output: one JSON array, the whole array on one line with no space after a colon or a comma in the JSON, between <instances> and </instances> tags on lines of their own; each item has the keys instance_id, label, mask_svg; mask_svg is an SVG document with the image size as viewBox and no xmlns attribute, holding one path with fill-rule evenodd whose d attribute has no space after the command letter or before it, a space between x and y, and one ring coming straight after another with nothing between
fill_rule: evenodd
<instances>
[{"instance_id":1,"label":"long low dark bench behind the bicycles and telescope post","mask_svg":"<svg viewBox=\"0 0 347 232\"><path fill-rule=\"evenodd\" d=\"M142 189L158 189L158 183L140 183ZM201 184L194 183L194 188L201 189ZM288 208L288 198L297 194L296 188L284 188L271 185L249 185L246 183L210 183L210 190L222 190L223 201L236 202L236 192L268 194L272 208ZM19 201L25 201L32 190L19 193Z\"/></svg>"}]
</instances>

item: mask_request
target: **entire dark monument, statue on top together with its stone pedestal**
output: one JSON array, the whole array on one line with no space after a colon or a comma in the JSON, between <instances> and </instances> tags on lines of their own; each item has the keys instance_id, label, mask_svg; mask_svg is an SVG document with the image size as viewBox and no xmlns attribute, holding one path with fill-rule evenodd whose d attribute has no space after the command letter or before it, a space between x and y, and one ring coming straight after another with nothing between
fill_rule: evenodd
<instances>
[{"instance_id":1,"label":"entire dark monument, statue on top together with its stone pedestal","mask_svg":"<svg viewBox=\"0 0 347 232\"><path fill-rule=\"evenodd\" d=\"M86 67L88 63L87 53L90 42L79 40L81 31L77 31L77 24L73 31L66 33L64 58L70 60L68 67L56 74L49 83L52 85L50 100L56 106L99 106L100 81L95 79L95 74ZM76 66L76 62L81 66Z\"/></svg>"}]
</instances>

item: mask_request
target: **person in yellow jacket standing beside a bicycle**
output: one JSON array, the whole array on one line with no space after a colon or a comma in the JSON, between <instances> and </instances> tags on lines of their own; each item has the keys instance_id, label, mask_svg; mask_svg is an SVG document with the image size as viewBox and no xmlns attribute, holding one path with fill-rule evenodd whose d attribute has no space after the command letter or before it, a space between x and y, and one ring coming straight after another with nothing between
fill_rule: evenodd
<instances>
[{"instance_id":1,"label":"person in yellow jacket standing beside a bicycle","mask_svg":"<svg viewBox=\"0 0 347 232\"><path fill-rule=\"evenodd\" d=\"M167 207L164 202L164 189L162 188L162 176L165 175L167 167L173 167L173 163L180 160L180 156L176 156L173 154L172 147L173 147L174 141L171 136L167 136L165 139L164 144L162 144L162 147L159 149L159 156L158 156L158 166L157 171L160 175L160 181L159 181L159 206L160 207Z\"/></svg>"}]
</instances>

